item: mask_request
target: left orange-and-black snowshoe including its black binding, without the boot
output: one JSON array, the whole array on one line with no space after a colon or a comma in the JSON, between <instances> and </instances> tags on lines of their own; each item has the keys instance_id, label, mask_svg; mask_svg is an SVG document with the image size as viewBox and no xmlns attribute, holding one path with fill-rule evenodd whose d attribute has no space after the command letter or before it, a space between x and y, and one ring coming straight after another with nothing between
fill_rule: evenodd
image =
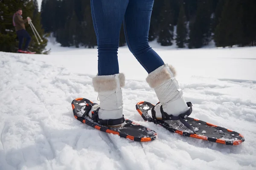
<instances>
[{"instance_id":1,"label":"left orange-and-black snowshoe including its black binding, without the boot","mask_svg":"<svg viewBox=\"0 0 256 170\"><path fill-rule=\"evenodd\" d=\"M124 117L122 117L120 120L99 119L99 117L97 116L97 111L99 110L99 108L96 111L92 112L92 118L90 118L88 116L88 112L90 111L91 107L95 104L88 99L74 99L71 105L73 109L73 114L77 120L86 125L94 127L95 129L100 130L102 132L116 134L119 135L120 137L128 138L137 142L148 142L153 141L154 139L157 138L157 133L154 130L151 130L145 126L132 122L131 120L124 119ZM114 121L122 121L122 125L120 127L111 127L111 123Z\"/></svg>"}]
</instances>

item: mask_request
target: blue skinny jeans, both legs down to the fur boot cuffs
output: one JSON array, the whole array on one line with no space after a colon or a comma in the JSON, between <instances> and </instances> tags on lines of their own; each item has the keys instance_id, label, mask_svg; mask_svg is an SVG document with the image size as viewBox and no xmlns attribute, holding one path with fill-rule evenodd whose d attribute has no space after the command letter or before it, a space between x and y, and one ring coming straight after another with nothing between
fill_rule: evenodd
<instances>
[{"instance_id":1,"label":"blue skinny jeans, both legs down to the fur boot cuffs","mask_svg":"<svg viewBox=\"0 0 256 170\"><path fill-rule=\"evenodd\" d=\"M98 44L98 74L119 73L117 51L124 24L131 53L148 73L164 65L148 45L148 31L154 0L91 0L93 26Z\"/></svg>"}]
</instances>

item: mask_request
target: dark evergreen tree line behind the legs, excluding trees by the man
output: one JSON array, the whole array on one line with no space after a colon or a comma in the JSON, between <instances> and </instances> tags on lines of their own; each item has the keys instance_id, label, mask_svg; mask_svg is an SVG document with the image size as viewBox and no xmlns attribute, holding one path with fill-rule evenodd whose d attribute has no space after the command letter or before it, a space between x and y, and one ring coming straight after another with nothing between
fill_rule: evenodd
<instances>
[{"instance_id":1,"label":"dark evergreen tree line behind the legs, excluding trees by the man","mask_svg":"<svg viewBox=\"0 0 256 170\"><path fill-rule=\"evenodd\" d=\"M155 0L149 41L179 48L256 45L255 0ZM43 0L41 23L62 46L96 46L90 0ZM176 31L175 31L176 28ZM125 45L123 26L120 46Z\"/></svg>"}]
</instances>

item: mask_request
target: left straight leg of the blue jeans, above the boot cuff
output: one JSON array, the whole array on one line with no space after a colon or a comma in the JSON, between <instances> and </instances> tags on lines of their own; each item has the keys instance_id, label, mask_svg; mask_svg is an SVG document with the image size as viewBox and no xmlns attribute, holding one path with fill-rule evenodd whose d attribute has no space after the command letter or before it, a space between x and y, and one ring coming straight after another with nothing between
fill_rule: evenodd
<instances>
[{"instance_id":1,"label":"left straight leg of the blue jeans, above the boot cuff","mask_svg":"<svg viewBox=\"0 0 256 170\"><path fill-rule=\"evenodd\" d=\"M119 73L119 34L129 0L91 0L98 44L98 75Z\"/></svg>"}]
</instances>

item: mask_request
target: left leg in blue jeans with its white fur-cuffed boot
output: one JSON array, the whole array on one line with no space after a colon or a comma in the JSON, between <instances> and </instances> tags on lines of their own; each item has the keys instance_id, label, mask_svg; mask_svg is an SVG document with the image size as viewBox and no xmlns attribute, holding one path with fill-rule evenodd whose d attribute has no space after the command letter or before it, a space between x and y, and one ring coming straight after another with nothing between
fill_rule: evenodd
<instances>
[{"instance_id":1,"label":"left leg in blue jeans with its white fur-cuffed boot","mask_svg":"<svg viewBox=\"0 0 256 170\"><path fill-rule=\"evenodd\" d=\"M93 77L93 88L99 94L99 105L93 105L92 111L98 111L99 119L115 119L110 126L119 126L122 117L122 87L124 74L119 73L117 50L119 34L128 0L91 0L93 26L98 44L98 75ZM102 124L103 125L103 124Z\"/></svg>"}]
</instances>

